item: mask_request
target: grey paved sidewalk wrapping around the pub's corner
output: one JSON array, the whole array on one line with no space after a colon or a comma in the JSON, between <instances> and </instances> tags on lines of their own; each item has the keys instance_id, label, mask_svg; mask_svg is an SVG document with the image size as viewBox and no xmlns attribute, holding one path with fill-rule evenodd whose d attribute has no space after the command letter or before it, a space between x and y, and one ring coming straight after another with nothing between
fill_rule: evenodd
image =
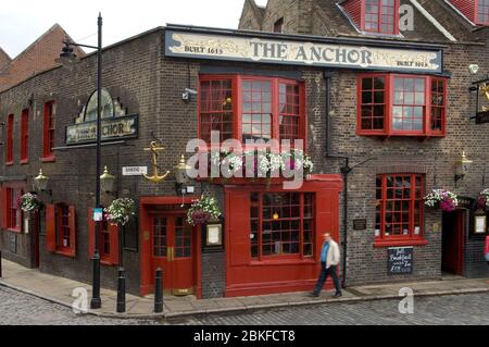
<instances>
[{"instance_id":1,"label":"grey paved sidewalk wrapping around the pub's corner","mask_svg":"<svg viewBox=\"0 0 489 347\"><path fill-rule=\"evenodd\" d=\"M40 273L37 270L25 269L18 264L3 260L3 277L0 285L23 293L27 293L52 302L72 307L75 300L72 297L73 289L86 288L88 297L91 296L91 286L66 280L59 276ZM236 313L265 310L272 308L311 306L328 302L355 302L367 300L381 300L399 298L401 288L412 288L416 296L457 295L472 293L488 293L488 278L465 280L449 277L446 281L415 282L389 285L371 285L349 287L343 297L333 299L330 293L324 293L319 298L310 298L306 293L266 295L230 299L197 300L195 297L165 297L165 310L163 314L154 314L153 299L151 296L141 298L133 295L126 296L127 312L115 313L116 292L102 289L102 309L90 311L90 314L121 318L121 319L158 319L180 318L210 313Z\"/></svg>"}]
</instances>

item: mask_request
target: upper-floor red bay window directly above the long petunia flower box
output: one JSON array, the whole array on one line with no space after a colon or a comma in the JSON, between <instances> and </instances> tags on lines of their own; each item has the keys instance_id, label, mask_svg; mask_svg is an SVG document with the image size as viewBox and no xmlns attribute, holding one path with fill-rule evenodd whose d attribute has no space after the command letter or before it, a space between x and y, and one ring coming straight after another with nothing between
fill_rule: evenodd
<instances>
[{"instance_id":1,"label":"upper-floor red bay window directly above the long petunia flower box","mask_svg":"<svg viewBox=\"0 0 489 347\"><path fill-rule=\"evenodd\" d=\"M303 83L278 77L201 76L199 136L247 141L305 138Z\"/></svg>"}]
</instances>

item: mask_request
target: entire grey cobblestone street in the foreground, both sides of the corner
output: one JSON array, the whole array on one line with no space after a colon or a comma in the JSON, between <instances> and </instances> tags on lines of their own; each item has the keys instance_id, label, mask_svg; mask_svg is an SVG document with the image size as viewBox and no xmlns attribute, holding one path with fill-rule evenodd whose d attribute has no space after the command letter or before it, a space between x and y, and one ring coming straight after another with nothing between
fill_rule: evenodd
<instances>
[{"instance_id":1,"label":"entire grey cobblestone street in the foreground, both sides of the corner","mask_svg":"<svg viewBox=\"0 0 489 347\"><path fill-rule=\"evenodd\" d=\"M181 325L489 325L489 294L415 299L414 314L400 314L399 301L329 303L252 314L172 320ZM0 325L145 325L154 321L104 319L74 314L66 307L0 287Z\"/></svg>"}]
</instances>

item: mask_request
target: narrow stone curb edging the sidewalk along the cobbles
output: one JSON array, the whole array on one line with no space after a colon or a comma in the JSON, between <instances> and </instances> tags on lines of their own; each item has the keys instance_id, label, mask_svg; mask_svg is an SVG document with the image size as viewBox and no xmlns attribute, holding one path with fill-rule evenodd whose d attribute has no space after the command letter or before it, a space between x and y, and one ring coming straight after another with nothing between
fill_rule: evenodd
<instances>
[{"instance_id":1,"label":"narrow stone curb edging the sidewalk along the cobbles","mask_svg":"<svg viewBox=\"0 0 489 347\"><path fill-rule=\"evenodd\" d=\"M72 306L63 302L61 300L54 299L52 297L38 294L36 292L17 287L15 285L5 283L0 280L0 286L24 293L46 301L57 303L66 308L72 309ZM489 288L468 288L468 289L453 289L453 290L436 290L436 292L424 292L415 293L415 297L434 297L434 296L450 296L450 295L468 295L478 293L489 293ZM149 313L149 314L127 314L127 313L102 313L97 311L89 311L85 314L95 315L99 318L109 319L120 319L120 320L172 320L188 317L203 317L209 314L231 314L231 313L251 313L260 310L269 309L285 309L291 307L308 307L317 306L326 303L349 303L349 302L367 302L367 301L380 301L380 300L392 300L399 299L399 295L378 295L378 296L365 296L365 297L351 297L351 298L340 298L340 299L310 299L306 301L293 301L293 302L280 302L280 303L264 303L264 305L251 305L239 308L218 308L218 309L208 309L208 310L192 310L183 312L171 312L171 313Z\"/></svg>"}]
</instances>

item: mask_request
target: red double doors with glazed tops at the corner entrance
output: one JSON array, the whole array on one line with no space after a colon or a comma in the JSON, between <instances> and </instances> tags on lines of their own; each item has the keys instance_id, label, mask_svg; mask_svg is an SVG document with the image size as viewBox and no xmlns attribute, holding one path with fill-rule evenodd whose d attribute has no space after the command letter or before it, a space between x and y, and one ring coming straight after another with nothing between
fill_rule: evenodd
<instances>
[{"instance_id":1,"label":"red double doors with glazed tops at the corner entrance","mask_svg":"<svg viewBox=\"0 0 489 347\"><path fill-rule=\"evenodd\" d=\"M153 273L163 270L164 289L173 295L193 294L192 227L185 215L158 214L153 216Z\"/></svg>"}]
</instances>

